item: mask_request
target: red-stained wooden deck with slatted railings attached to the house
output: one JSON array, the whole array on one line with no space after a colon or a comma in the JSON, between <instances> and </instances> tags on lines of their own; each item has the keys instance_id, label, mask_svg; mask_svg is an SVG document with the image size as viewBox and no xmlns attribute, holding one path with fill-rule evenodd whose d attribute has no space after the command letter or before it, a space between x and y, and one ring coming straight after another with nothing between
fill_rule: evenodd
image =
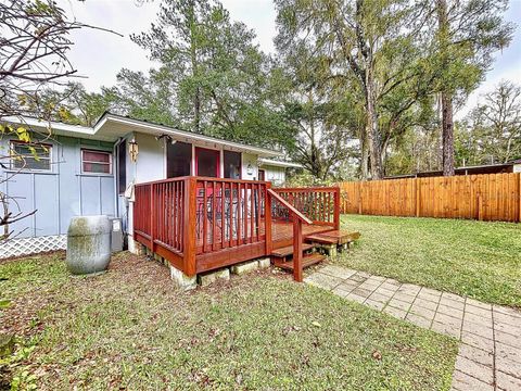
<instances>
[{"instance_id":1,"label":"red-stained wooden deck with slatted railings attached to the house","mask_svg":"<svg viewBox=\"0 0 521 391\"><path fill-rule=\"evenodd\" d=\"M190 176L138 184L135 195L134 239L187 276L293 245L302 280L306 237L340 227L339 188Z\"/></svg>"}]
</instances>

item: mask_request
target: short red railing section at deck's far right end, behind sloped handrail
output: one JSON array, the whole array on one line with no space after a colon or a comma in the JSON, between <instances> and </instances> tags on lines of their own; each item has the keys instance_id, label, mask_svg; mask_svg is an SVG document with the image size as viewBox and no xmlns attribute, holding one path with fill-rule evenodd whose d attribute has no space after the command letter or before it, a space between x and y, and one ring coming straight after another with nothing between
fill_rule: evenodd
<instances>
[{"instance_id":1,"label":"short red railing section at deck's far right end, behind sloped handrail","mask_svg":"<svg viewBox=\"0 0 521 391\"><path fill-rule=\"evenodd\" d=\"M340 188L279 188L274 189L315 225L340 228ZM278 213L278 216L281 214Z\"/></svg>"}]
</instances>

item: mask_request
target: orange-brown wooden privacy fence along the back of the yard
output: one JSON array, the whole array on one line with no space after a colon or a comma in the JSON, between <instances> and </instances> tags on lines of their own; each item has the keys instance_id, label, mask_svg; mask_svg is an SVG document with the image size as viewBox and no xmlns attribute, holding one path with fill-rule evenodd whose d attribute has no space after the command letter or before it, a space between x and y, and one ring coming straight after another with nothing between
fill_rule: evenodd
<instances>
[{"instance_id":1,"label":"orange-brown wooden privacy fence along the back of the yard","mask_svg":"<svg viewBox=\"0 0 521 391\"><path fill-rule=\"evenodd\" d=\"M342 213L521 222L521 174L342 182Z\"/></svg>"}]
</instances>

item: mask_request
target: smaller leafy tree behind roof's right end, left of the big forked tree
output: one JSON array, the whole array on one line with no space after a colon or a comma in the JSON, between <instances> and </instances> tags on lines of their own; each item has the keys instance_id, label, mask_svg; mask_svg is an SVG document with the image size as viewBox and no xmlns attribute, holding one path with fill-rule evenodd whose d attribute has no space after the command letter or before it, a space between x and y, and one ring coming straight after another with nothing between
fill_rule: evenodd
<instances>
[{"instance_id":1,"label":"smaller leafy tree behind roof's right end, left of the big forked tree","mask_svg":"<svg viewBox=\"0 0 521 391\"><path fill-rule=\"evenodd\" d=\"M350 142L356 137L354 126L356 99L336 93L323 79L322 58L301 42L281 58L279 99L285 121L293 129L292 160L301 163L314 180L323 184L352 153Z\"/></svg>"}]
</instances>

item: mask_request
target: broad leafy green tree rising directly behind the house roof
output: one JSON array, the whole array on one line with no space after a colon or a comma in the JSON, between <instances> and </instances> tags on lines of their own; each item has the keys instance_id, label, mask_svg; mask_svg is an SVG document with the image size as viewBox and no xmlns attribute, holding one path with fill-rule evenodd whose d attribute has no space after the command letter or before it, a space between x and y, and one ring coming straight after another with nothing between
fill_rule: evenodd
<instances>
[{"instance_id":1,"label":"broad leafy green tree rising directly behind the house roof","mask_svg":"<svg viewBox=\"0 0 521 391\"><path fill-rule=\"evenodd\" d=\"M213 0L164 0L150 30L132 36L161 63L176 126L277 146L285 127L269 104L270 60L254 38Z\"/></svg>"}]
</instances>

